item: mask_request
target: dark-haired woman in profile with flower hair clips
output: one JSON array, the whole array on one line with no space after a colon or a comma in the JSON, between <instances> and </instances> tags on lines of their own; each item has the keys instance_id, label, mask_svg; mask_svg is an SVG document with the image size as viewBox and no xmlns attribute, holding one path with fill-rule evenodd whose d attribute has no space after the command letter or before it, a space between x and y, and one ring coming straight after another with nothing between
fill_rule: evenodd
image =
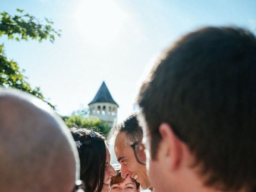
<instances>
[{"instance_id":1,"label":"dark-haired woman in profile with flower hair clips","mask_svg":"<svg viewBox=\"0 0 256 192\"><path fill-rule=\"evenodd\" d=\"M80 179L86 192L110 192L110 178L116 171L104 136L85 128L71 128L80 158Z\"/></svg>"}]
</instances>

